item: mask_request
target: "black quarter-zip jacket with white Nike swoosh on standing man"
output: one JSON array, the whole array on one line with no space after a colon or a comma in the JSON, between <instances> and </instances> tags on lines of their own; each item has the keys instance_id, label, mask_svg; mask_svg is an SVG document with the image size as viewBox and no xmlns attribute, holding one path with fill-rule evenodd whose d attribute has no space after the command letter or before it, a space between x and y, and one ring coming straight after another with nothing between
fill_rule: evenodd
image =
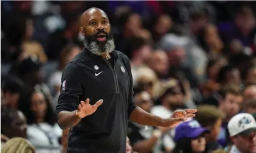
<instances>
[{"instance_id":1,"label":"black quarter-zip jacket with white Nike swoosh on standing man","mask_svg":"<svg viewBox=\"0 0 256 153\"><path fill-rule=\"evenodd\" d=\"M62 110L78 109L80 101L93 105L103 99L97 111L82 118L70 129L68 153L125 153L128 118L133 101L133 77L130 60L113 51L114 66L87 49L76 55L62 74L62 87L56 117Z\"/></svg>"}]
</instances>

